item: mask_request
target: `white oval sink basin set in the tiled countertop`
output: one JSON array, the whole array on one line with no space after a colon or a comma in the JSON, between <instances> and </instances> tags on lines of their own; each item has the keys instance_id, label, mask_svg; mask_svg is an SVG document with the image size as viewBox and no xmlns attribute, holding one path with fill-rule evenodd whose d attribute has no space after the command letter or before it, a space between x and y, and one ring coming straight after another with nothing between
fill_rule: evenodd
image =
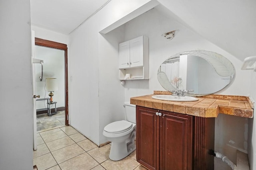
<instances>
[{"instance_id":1,"label":"white oval sink basin set in the tiled countertop","mask_svg":"<svg viewBox=\"0 0 256 170\"><path fill-rule=\"evenodd\" d=\"M191 96L172 96L166 94L159 94L152 96L153 99L158 100L170 100L170 101L177 101L177 102L193 102L198 101L198 98L194 98Z\"/></svg>"}]
</instances>

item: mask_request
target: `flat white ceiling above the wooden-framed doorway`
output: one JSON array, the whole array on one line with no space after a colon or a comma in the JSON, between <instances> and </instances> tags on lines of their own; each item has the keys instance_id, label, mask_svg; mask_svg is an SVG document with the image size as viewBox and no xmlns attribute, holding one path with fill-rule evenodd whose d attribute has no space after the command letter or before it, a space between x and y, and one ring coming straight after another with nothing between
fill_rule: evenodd
<instances>
[{"instance_id":1,"label":"flat white ceiling above the wooden-framed doorway","mask_svg":"<svg viewBox=\"0 0 256 170\"><path fill-rule=\"evenodd\" d=\"M31 0L31 24L68 35L109 0Z\"/></svg>"}]
</instances>

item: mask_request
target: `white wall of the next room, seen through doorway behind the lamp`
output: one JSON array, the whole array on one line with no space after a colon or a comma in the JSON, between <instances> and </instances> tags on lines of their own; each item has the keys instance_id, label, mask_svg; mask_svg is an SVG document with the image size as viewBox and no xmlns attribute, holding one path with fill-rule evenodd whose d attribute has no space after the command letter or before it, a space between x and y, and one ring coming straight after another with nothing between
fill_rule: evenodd
<instances>
[{"instance_id":1,"label":"white wall of the next room, seen through doorway behind the lamp","mask_svg":"<svg viewBox=\"0 0 256 170\"><path fill-rule=\"evenodd\" d=\"M42 74L41 64L36 64L36 95L40 98L50 98L50 92L45 91L45 79L57 78L58 90L53 92L53 101L58 102L56 107L65 107L65 55L64 50L53 49L36 45L35 58L44 61L43 80L39 76ZM36 109L47 107L47 100L37 101ZM51 105L54 108L54 105Z\"/></svg>"}]
</instances>

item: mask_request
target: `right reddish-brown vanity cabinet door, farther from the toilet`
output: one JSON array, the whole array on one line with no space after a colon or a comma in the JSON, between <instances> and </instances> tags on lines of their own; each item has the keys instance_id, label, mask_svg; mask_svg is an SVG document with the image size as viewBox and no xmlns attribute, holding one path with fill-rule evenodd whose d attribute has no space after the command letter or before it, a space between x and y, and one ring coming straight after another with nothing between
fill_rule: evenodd
<instances>
[{"instance_id":1,"label":"right reddish-brown vanity cabinet door, farther from the toilet","mask_svg":"<svg viewBox=\"0 0 256 170\"><path fill-rule=\"evenodd\" d=\"M192 125L191 115L168 112L160 117L160 170L192 170Z\"/></svg>"}]
</instances>

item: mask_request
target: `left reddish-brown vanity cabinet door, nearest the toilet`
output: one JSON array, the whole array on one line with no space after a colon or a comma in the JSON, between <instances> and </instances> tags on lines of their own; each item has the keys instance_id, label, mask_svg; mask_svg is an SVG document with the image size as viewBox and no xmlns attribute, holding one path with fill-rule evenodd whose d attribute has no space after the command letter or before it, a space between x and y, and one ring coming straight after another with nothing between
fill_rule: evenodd
<instances>
[{"instance_id":1,"label":"left reddish-brown vanity cabinet door, nearest the toilet","mask_svg":"<svg viewBox=\"0 0 256 170\"><path fill-rule=\"evenodd\" d=\"M159 119L155 109L136 106L136 158L150 170L159 170Z\"/></svg>"}]
</instances>

